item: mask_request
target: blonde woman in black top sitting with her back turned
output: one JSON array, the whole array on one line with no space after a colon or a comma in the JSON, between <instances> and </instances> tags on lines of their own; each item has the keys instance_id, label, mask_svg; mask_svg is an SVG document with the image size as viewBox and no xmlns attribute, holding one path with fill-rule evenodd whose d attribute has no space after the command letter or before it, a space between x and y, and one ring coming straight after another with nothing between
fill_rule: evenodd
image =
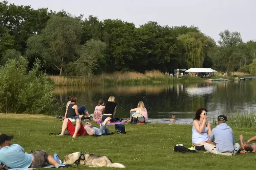
<instances>
[{"instance_id":1,"label":"blonde woman in black top sitting with her back turned","mask_svg":"<svg viewBox=\"0 0 256 170\"><path fill-rule=\"evenodd\" d=\"M107 103L105 104L105 111L102 116L102 121L104 121L106 118L110 117L110 122L116 122L115 115L116 115L116 99L114 96L110 96L107 100Z\"/></svg>"}]
</instances>

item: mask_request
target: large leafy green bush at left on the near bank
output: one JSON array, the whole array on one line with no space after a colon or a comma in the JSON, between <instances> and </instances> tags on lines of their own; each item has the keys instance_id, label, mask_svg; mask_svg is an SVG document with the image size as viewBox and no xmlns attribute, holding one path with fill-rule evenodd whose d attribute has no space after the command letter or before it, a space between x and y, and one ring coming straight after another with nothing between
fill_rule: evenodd
<instances>
[{"instance_id":1,"label":"large leafy green bush at left on the near bank","mask_svg":"<svg viewBox=\"0 0 256 170\"><path fill-rule=\"evenodd\" d=\"M53 86L39 71L36 59L33 68L27 72L28 61L24 57L8 60L0 67L0 110L4 113L48 113L56 108Z\"/></svg>"}]
</instances>

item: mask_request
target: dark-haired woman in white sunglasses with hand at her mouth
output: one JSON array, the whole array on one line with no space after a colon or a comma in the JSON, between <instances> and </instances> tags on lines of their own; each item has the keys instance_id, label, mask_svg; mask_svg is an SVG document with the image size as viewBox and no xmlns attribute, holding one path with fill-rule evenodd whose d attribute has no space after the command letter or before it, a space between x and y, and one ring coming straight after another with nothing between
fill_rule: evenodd
<instances>
[{"instance_id":1,"label":"dark-haired woman in white sunglasses with hand at her mouth","mask_svg":"<svg viewBox=\"0 0 256 170\"><path fill-rule=\"evenodd\" d=\"M192 143L195 146L202 146L207 142L210 134L211 125L210 122L207 121L207 110L205 108L200 108L195 113L192 127Z\"/></svg>"}]
</instances>

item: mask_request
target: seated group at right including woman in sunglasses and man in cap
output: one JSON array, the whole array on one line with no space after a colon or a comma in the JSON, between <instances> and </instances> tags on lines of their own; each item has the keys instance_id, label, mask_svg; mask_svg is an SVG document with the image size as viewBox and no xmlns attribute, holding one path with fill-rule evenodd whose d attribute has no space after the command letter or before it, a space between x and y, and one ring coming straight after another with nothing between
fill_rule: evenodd
<instances>
[{"instance_id":1,"label":"seated group at right including woman in sunglasses and man in cap","mask_svg":"<svg viewBox=\"0 0 256 170\"><path fill-rule=\"evenodd\" d=\"M243 141L243 136L239 136L240 145L235 143L234 133L227 125L225 115L218 116L218 126L211 130L210 122L207 120L207 110L199 109L195 113L192 126L192 146L191 150L206 150L209 153L221 155L235 155L240 147L246 152L256 152L255 144L248 145L249 142L256 141L256 136L248 141Z\"/></svg>"}]
</instances>

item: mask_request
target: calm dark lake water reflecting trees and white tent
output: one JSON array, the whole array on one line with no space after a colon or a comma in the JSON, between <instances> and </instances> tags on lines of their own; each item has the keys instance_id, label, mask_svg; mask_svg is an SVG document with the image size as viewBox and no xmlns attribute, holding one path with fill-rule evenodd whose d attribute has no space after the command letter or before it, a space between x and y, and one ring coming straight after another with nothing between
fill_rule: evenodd
<instances>
[{"instance_id":1,"label":"calm dark lake water reflecting trees and white tent","mask_svg":"<svg viewBox=\"0 0 256 170\"><path fill-rule=\"evenodd\" d=\"M63 103L67 102L67 96L77 96L78 106L85 105L90 114L99 99L107 101L110 95L114 95L118 104L117 118L128 118L130 109L143 101L150 122L170 123L168 119L174 114L178 119L176 123L190 124L195 111L201 107L208 110L209 119L219 114L256 111L256 80L142 86L61 86L55 87L54 92Z\"/></svg>"}]
</instances>

